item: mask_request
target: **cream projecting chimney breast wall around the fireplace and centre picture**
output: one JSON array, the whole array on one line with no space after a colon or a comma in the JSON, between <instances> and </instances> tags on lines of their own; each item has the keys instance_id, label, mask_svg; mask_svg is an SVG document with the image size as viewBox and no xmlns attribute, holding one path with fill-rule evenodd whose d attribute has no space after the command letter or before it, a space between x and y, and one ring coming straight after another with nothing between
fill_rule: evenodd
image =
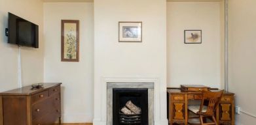
<instances>
[{"instance_id":1,"label":"cream projecting chimney breast wall around the fireplace and centre picture","mask_svg":"<svg viewBox=\"0 0 256 125\"><path fill-rule=\"evenodd\" d=\"M119 21L142 21L143 41L119 42ZM166 0L95 0L94 34L94 124L106 118L103 77L159 79L161 115L155 122L167 124Z\"/></svg>"}]
</instances>

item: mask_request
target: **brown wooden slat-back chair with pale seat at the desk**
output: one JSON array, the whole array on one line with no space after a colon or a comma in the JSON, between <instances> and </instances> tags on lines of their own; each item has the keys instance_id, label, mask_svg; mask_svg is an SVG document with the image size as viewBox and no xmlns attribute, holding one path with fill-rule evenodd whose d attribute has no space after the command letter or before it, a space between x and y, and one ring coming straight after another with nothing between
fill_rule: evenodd
<instances>
[{"instance_id":1,"label":"brown wooden slat-back chair with pale seat at the desk","mask_svg":"<svg viewBox=\"0 0 256 125\"><path fill-rule=\"evenodd\" d=\"M210 91L202 91L202 101L200 105L189 105L188 109L192 113L198 115L197 119L189 117L189 124L200 124L200 125L210 125L217 124L215 118L215 110L219 105L219 101L221 95L223 94L223 90L219 92L210 92ZM198 119L200 118L200 119ZM204 120L211 118L210 122L204 122Z\"/></svg>"}]
</instances>

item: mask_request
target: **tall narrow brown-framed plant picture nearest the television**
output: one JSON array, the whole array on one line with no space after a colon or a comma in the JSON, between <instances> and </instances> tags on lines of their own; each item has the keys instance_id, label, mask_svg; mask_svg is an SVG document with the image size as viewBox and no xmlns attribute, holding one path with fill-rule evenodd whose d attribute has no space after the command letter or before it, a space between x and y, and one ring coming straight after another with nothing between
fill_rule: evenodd
<instances>
[{"instance_id":1,"label":"tall narrow brown-framed plant picture nearest the television","mask_svg":"<svg viewBox=\"0 0 256 125\"><path fill-rule=\"evenodd\" d=\"M79 20L62 20L62 61L79 62Z\"/></svg>"}]
</instances>

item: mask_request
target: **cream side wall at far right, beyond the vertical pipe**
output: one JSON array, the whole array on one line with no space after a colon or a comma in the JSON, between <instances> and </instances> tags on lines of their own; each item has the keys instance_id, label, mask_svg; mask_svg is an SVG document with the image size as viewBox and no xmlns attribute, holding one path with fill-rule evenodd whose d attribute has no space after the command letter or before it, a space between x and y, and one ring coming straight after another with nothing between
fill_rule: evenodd
<instances>
[{"instance_id":1,"label":"cream side wall at far right, beyond the vertical pipe","mask_svg":"<svg viewBox=\"0 0 256 125\"><path fill-rule=\"evenodd\" d=\"M236 115L238 125L256 123L255 5L255 0L229 0L229 91L244 112Z\"/></svg>"}]
</instances>

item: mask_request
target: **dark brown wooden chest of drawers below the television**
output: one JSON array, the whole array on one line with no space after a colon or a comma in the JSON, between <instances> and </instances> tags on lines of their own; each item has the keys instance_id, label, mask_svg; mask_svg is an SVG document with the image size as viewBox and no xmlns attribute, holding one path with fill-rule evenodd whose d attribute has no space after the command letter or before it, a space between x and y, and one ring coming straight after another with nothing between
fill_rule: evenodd
<instances>
[{"instance_id":1,"label":"dark brown wooden chest of drawers below the television","mask_svg":"<svg viewBox=\"0 0 256 125\"><path fill-rule=\"evenodd\" d=\"M0 125L61 124L60 85L44 83L43 88L31 86L0 93Z\"/></svg>"}]
</instances>

